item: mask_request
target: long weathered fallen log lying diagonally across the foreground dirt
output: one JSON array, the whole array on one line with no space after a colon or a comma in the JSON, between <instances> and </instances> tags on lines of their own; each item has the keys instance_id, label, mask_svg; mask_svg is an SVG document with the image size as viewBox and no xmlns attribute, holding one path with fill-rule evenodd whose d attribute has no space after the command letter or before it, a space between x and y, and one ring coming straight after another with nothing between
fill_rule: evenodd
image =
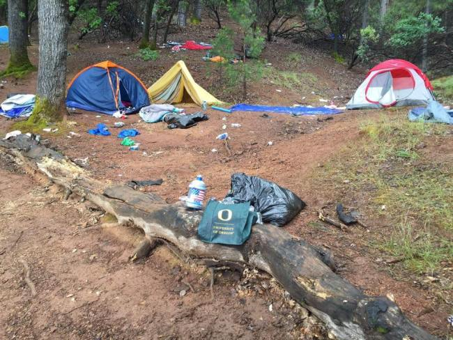
<instances>
[{"instance_id":1,"label":"long weathered fallen log lying diagonally across the foreground dirt","mask_svg":"<svg viewBox=\"0 0 453 340\"><path fill-rule=\"evenodd\" d=\"M337 339L436 339L408 320L387 297L365 295L336 275L330 268L330 256L284 229L256 224L244 245L204 243L197 237L200 212L166 204L155 194L95 180L67 157L23 134L0 141L0 150L12 155L26 171L44 173L52 182L114 215L118 223L132 222L148 238L170 242L186 256L268 272L294 300L323 320Z\"/></svg>"}]
</instances>

